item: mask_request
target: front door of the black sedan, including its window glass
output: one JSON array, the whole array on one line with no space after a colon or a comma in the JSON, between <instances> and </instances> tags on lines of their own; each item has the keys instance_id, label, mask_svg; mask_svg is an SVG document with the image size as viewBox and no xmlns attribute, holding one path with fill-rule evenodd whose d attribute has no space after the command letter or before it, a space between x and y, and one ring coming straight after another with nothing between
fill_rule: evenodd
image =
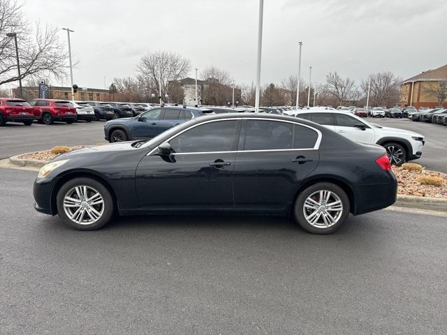
<instances>
[{"instance_id":1,"label":"front door of the black sedan, including its window glass","mask_svg":"<svg viewBox=\"0 0 447 335\"><path fill-rule=\"evenodd\" d=\"M135 175L142 209L232 209L233 169L240 121L207 121L168 140L142 158Z\"/></svg>"}]
</instances>

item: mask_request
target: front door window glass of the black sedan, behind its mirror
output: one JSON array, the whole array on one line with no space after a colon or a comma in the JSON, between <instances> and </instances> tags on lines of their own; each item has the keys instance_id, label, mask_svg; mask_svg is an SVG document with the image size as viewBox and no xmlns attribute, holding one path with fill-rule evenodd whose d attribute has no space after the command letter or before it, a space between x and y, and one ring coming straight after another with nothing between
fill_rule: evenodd
<instances>
[{"instance_id":1,"label":"front door window glass of the black sedan, behind its mirror","mask_svg":"<svg viewBox=\"0 0 447 335\"><path fill-rule=\"evenodd\" d=\"M236 121L201 124L170 140L175 152L230 151L235 140Z\"/></svg>"}]
</instances>

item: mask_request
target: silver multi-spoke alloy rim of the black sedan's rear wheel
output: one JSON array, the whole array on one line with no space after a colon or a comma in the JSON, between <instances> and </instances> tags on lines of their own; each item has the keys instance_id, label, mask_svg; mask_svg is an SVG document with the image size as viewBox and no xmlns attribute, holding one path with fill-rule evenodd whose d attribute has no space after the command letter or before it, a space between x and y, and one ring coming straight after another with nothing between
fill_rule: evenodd
<instances>
[{"instance_id":1,"label":"silver multi-spoke alloy rim of the black sedan's rear wheel","mask_svg":"<svg viewBox=\"0 0 447 335\"><path fill-rule=\"evenodd\" d=\"M342 216L343 204L334 192L320 190L307 197L302 211L310 225L316 228L329 228Z\"/></svg>"}]
</instances>

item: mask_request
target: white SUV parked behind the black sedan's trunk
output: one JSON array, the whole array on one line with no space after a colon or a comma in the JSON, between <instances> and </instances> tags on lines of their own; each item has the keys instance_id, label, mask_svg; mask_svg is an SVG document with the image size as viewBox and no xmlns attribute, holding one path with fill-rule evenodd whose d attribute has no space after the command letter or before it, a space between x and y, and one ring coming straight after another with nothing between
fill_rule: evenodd
<instances>
[{"instance_id":1,"label":"white SUV parked behind the black sedan's trunk","mask_svg":"<svg viewBox=\"0 0 447 335\"><path fill-rule=\"evenodd\" d=\"M314 121L356 142L380 144L393 165L422 156L424 136L412 131L371 124L350 112L337 110L300 110L293 116Z\"/></svg>"}]
</instances>

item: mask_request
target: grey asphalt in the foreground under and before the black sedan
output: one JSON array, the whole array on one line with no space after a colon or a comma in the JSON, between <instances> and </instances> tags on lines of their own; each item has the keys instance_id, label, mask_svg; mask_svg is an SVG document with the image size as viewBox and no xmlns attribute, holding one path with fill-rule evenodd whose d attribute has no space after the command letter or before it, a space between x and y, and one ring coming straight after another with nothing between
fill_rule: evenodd
<instances>
[{"instance_id":1,"label":"grey asphalt in the foreground under and before the black sedan","mask_svg":"<svg viewBox=\"0 0 447 335\"><path fill-rule=\"evenodd\" d=\"M80 232L34 211L35 177L0 170L0 334L447 333L445 217L382 210L324 236L253 216Z\"/></svg>"}]
</instances>

